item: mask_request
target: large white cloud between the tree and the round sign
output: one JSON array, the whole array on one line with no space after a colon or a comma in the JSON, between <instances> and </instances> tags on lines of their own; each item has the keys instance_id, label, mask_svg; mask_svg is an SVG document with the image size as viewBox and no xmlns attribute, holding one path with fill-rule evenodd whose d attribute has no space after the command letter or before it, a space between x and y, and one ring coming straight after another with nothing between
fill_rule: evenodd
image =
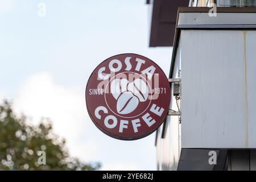
<instances>
[{"instance_id":1,"label":"large white cloud between the tree and the round sign","mask_svg":"<svg viewBox=\"0 0 256 182\"><path fill-rule=\"evenodd\" d=\"M24 81L14 99L14 109L31 117L33 124L42 117L50 118L55 133L67 139L73 156L90 160L94 154L96 143L79 139L86 132L89 118L83 90L57 85L49 73L36 73Z\"/></svg>"}]
</instances>

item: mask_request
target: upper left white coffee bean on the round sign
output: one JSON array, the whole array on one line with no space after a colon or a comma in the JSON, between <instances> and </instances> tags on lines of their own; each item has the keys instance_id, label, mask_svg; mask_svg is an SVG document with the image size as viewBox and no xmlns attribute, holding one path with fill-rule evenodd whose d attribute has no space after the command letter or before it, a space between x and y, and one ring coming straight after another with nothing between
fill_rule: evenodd
<instances>
[{"instance_id":1,"label":"upper left white coffee bean on the round sign","mask_svg":"<svg viewBox=\"0 0 256 182\"><path fill-rule=\"evenodd\" d=\"M125 78L123 78L121 80L115 79L112 81L112 83L110 85L110 92L112 93L115 100L117 100L117 98L120 96L121 93L127 91L128 82L129 81L126 80Z\"/></svg>"}]
</instances>

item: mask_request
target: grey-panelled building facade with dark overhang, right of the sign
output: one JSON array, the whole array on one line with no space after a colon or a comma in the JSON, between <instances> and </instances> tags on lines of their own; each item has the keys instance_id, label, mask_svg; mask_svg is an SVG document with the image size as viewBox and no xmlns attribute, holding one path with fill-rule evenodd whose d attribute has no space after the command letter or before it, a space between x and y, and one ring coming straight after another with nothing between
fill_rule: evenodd
<instances>
[{"instance_id":1,"label":"grey-panelled building facade with dark overhang, right of the sign","mask_svg":"<svg viewBox=\"0 0 256 182\"><path fill-rule=\"evenodd\" d=\"M256 170L256 1L151 3L150 46L173 46L158 169Z\"/></svg>"}]
</instances>

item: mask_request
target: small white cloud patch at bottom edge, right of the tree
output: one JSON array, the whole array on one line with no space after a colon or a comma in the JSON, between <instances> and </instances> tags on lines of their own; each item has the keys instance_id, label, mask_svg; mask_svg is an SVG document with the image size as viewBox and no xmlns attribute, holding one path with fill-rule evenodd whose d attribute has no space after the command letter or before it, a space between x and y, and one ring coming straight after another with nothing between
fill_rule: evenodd
<instances>
[{"instance_id":1,"label":"small white cloud patch at bottom edge, right of the tree","mask_svg":"<svg viewBox=\"0 0 256 182\"><path fill-rule=\"evenodd\" d=\"M110 163L100 168L101 171L137 171L135 163Z\"/></svg>"}]
</instances>

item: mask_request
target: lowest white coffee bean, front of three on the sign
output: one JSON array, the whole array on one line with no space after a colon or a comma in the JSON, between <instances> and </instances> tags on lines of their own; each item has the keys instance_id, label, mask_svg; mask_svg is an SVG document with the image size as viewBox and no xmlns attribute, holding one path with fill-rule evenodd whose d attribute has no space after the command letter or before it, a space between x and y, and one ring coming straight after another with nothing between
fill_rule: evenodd
<instances>
[{"instance_id":1,"label":"lowest white coffee bean, front of three on the sign","mask_svg":"<svg viewBox=\"0 0 256 182\"><path fill-rule=\"evenodd\" d=\"M129 114L139 105L138 97L132 92L123 92L117 100L117 111L119 114Z\"/></svg>"}]
</instances>

